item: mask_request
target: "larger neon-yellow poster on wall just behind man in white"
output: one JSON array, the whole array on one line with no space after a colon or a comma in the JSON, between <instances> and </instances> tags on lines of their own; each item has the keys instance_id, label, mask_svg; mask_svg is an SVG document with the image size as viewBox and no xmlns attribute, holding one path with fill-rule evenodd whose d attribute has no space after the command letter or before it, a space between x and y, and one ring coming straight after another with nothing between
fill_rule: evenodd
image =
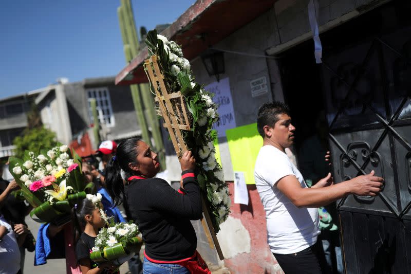
<instances>
[{"instance_id":1,"label":"larger neon-yellow poster on wall just behind man in white","mask_svg":"<svg viewBox=\"0 0 411 274\"><path fill-rule=\"evenodd\" d=\"M263 138L258 134L257 123L227 130L226 135L233 170L244 172L247 185L255 184L255 160L263 146Z\"/></svg>"}]
</instances>

